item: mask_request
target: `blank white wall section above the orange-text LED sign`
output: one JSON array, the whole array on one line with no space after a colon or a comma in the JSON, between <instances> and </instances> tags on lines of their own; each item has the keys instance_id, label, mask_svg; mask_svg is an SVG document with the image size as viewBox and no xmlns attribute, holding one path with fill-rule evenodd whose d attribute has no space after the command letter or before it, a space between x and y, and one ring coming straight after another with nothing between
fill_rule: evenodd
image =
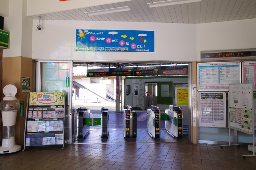
<instances>
[{"instance_id":1,"label":"blank white wall section above the orange-text LED sign","mask_svg":"<svg viewBox=\"0 0 256 170\"><path fill-rule=\"evenodd\" d=\"M256 19L196 24L197 61L200 51L256 48Z\"/></svg>"}]
</instances>

